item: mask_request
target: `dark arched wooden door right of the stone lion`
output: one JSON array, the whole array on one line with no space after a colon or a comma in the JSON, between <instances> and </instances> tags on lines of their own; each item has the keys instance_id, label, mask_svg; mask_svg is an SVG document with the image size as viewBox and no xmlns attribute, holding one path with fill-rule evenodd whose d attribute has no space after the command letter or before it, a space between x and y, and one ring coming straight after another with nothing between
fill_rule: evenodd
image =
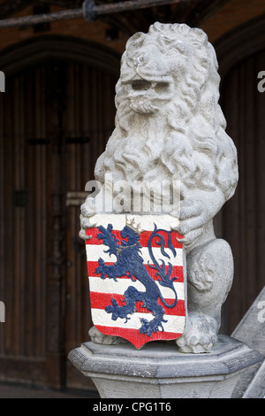
<instances>
[{"instance_id":1,"label":"dark arched wooden door right of the stone lion","mask_svg":"<svg viewBox=\"0 0 265 416\"><path fill-rule=\"evenodd\" d=\"M265 93L257 88L264 70L263 50L231 69L221 94L227 132L239 155L239 186L223 209L223 236L235 262L226 303L230 334L265 285Z\"/></svg>"}]
</instances>

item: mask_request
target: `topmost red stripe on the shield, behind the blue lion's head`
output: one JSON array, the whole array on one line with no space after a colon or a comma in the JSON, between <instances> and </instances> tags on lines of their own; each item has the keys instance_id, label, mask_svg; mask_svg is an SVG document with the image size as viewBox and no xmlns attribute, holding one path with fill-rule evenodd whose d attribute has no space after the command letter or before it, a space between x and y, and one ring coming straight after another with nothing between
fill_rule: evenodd
<instances>
[{"instance_id":1,"label":"topmost red stripe on the shield, behind the blue lion's head","mask_svg":"<svg viewBox=\"0 0 265 416\"><path fill-rule=\"evenodd\" d=\"M95 245L99 245L102 244L102 240L99 240L97 238L97 235L100 233L100 230L97 227L93 227L93 228L87 228L86 230L86 235L91 236L92 238L90 238L89 240L86 240L86 244L95 244ZM119 240L119 242L122 241L122 236L120 235L120 231L117 230L112 230L112 234L116 236L117 240ZM150 235L152 234L152 231L143 231L142 233L140 233L140 245L141 247L148 247L148 239L150 237ZM168 248L168 235L166 231L160 231L159 235L162 235L164 238L164 242L165 242L165 248ZM182 243L178 243L177 241L178 239L183 238L182 235L180 235L177 231L171 231L171 241L173 246L176 249L182 249ZM159 238L155 237L152 240L152 247L160 247L159 243Z\"/></svg>"}]
</instances>

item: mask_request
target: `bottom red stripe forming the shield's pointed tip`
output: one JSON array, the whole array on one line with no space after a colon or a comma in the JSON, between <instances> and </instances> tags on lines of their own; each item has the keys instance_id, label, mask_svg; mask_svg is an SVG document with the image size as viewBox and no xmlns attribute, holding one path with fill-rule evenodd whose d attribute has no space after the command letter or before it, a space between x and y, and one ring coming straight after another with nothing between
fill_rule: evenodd
<instances>
[{"instance_id":1,"label":"bottom red stripe forming the shield's pointed tip","mask_svg":"<svg viewBox=\"0 0 265 416\"><path fill-rule=\"evenodd\" d=\"M95 325L102 334L105 335L115 335L121 336L126 340L133 343L133 345L139 350L142 345L148 343L150 341L158 341L158 340L174 340L179 338L182 334L178 332L155 332L152 337L146 334L140 334L139 329L125 329L120 327L104 327L102 325Z\"/></svg>"}]
</instances>

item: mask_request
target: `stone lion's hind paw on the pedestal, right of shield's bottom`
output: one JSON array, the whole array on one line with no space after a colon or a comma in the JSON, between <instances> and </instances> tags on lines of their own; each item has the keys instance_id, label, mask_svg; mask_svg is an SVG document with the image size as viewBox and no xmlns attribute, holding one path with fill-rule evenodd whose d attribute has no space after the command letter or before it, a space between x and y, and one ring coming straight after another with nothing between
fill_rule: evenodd
<instances>
[{"instance_id":1,"label":"stone lion's hind paw on the pedestal, right of shield's bottom","mask_svg":"<svg viewBox=\"0 0 265 416\"><path fill-rule=\"evenodd\" d=\"M189 316L185 333L176 341L181 352L211 352L217 342L216 320L205 315Z\"/></svg>"}]
</instances>

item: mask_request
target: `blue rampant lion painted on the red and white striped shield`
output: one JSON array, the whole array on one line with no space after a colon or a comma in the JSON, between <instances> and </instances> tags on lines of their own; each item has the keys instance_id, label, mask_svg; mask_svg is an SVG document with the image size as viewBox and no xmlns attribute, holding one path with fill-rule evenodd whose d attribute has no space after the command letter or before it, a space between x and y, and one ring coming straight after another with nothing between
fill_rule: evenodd
<instances>
[{"instance_id":1,"label":"blue rampant lion painted on the red and white striped shield","mask_svg":"<svg viewBox=\"0 0 265 416\"><path fill-rule=\"evenodd\" d=\"M153 239L156 238L156 244L160 246L163 256L170 258L164 250L164 237L163 235L159 235L159 232L163 231L163 233L166 233L168 236L168 247L173 256L176 257L176 250L171 243L170 232L157 229L155 225L155 229L148 239L148 251L150 258L152 259L152 265L148 264L148 266L156 270L155 276L159 276L160 279L158 281L160 285L172 289L174 293L174 302L172 304L167 304L159 286L149 275L147 268L143 264L144 260L140 255L140 234L134 231L133 228L125 226L120 232L123 240L119 242L117 237L112 234L113 227L111 224L109 224L107 228L102 226L99 226L98 228L101 233L97 235L97 238L102 240L102 243L109 247L109 249L104 252L109 253L109 255L114 254L117 257L117 262L114 265L109 266L105 265L102 258L99 258L99 266L96 268L95 273L101 274L102 279L106 279L108 276L109 279L114 279L114 281L117 281L117 277L126 275L130 277L132 281L140 281L146 288L146 291L140 291L133 286L129 286L124 293L124 305L119 306L117 300L112 298L111 304L106 306L105 311L112 313L112 320L122 318L127 322L127 320L130 319L128 315L136 312L136 303L141 302L142 306L149 312L152 312L155 318L150 321L140 319L140 333L147 334L151 337L153 332L158 332L159 330L163 331L163 322L166 322L166 320L163 319L164 309L161 304L158 304L158 299L161 299L162 304L168 308L172 309L176 306L178 303L178 296L173 283L178 280L178 277L170 277L172 272L172 265L170 263L168 265L167 273L163 259L161 259L162 265L159 265L158 261L155 259L151 244Z\"/></svg>"}]
</instances>

